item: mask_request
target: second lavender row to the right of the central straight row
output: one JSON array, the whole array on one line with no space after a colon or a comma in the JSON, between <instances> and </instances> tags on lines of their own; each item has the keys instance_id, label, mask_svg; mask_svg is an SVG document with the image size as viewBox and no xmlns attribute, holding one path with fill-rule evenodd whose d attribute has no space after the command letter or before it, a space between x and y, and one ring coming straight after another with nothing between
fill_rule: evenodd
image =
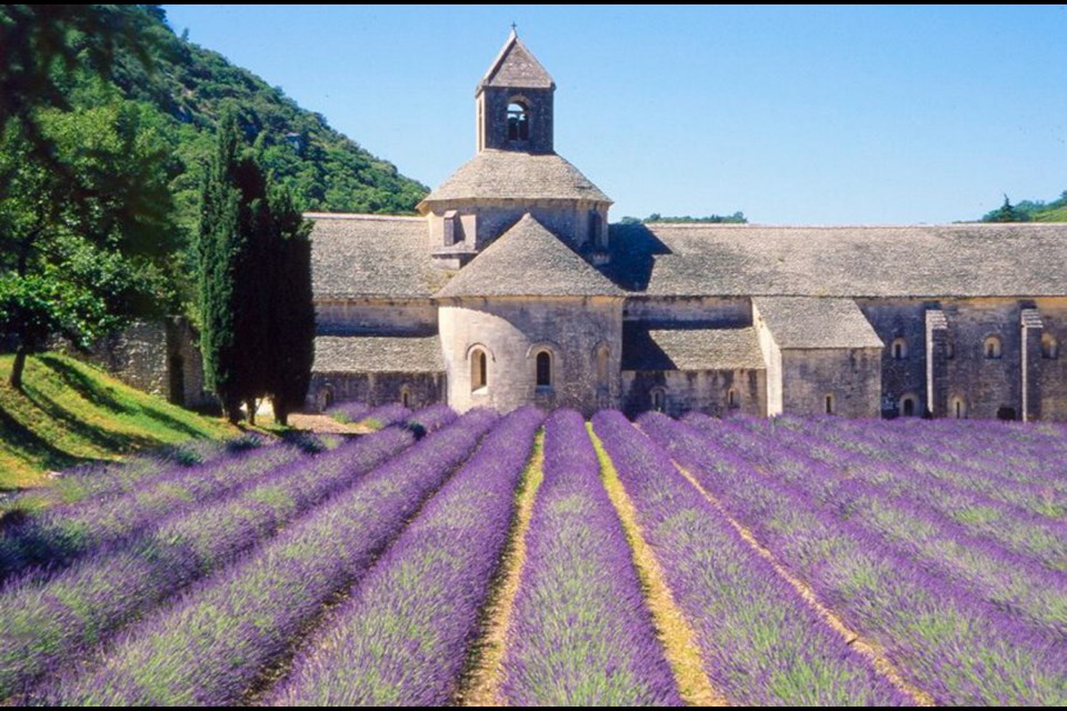
<instances>
[{"instance_id":1,"label":"second lavender row to the right of the central straight row","mask_svg":"<svg viewBox=\"0 0 1067 711\"><path fill-rule=\"evenodd\" d=\"M1061 641L828 511L806 487L760 473L717 438L658 414L640 427L938 703L1067 702Z\"/></svg>"}]
</instances>

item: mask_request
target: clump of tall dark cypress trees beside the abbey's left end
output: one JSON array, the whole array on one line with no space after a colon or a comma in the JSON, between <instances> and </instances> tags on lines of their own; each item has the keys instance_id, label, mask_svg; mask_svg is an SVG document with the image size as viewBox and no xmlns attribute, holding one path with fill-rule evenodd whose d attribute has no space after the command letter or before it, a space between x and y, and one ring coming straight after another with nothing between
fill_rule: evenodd
<instances>
[{"instance_id":1,"label":"clump of tall dark cypress trees beside the abbey's left end","mask_svg":"<svg viewBox=\"0 0 1067 711\"><path fill-rule=\"evenodd\" d=\"M201 352L231 421L270 397L285 423L311 375L315 310L310 226L271 190L237 119L223 118L205 181L198 242Z\"/></svg>"}]
</instances>

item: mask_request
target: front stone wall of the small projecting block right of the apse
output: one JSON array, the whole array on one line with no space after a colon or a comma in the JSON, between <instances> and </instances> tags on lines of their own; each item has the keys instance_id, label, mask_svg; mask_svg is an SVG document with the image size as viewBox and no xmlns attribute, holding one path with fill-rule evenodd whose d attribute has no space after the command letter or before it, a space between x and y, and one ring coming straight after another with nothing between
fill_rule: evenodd
<instances>
[{"instance_id":1,"label":"front stone wall of the small projecting block right of the apse","mask_svg":"<svg viewBox=\"0 0 1067 711\"><path fill-rule=\"evenodd\" d=\"M781 404L790 414L876 418L880 412L881 349L781 350Z\"/></svg>"}]
</instances>

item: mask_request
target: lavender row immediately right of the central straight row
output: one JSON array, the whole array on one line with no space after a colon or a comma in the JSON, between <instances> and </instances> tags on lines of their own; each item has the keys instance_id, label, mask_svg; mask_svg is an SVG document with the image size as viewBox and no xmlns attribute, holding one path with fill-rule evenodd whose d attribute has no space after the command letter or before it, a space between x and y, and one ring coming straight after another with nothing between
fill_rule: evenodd
<instances>
[{"instance_id":1,"label":"lavender row immediately right of the central straight row","mask_svg":"<svg viewBox=\"0 0 1067 711\"><path fill-rule=\"evenodd\" d=\"M903 705L910 699L832 632L618 412L594 418L638 523L697 632L705 671L744 705Z\"/></svg>"}]
</instances>

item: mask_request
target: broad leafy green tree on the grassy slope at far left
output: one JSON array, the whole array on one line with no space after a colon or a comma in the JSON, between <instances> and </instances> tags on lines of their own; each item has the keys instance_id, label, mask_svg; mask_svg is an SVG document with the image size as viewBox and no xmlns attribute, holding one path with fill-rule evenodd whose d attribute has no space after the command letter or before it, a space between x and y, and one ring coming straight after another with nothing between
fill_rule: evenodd
<instances>
[{"instance_id":1,"label":"broad leafy green tree on the grassy slope at far left","mask_svg":"<svg viewBox=\"0 0 1067 711\"><path fill-rule=\"evenodd\" d=\"M50 336L87 346L164 310L176 233L166 147L136 106L39 110L34 126L31 137L10 120L0 134L0 332L17 342L18 390Z\"/></svg>"}]
</instances>

